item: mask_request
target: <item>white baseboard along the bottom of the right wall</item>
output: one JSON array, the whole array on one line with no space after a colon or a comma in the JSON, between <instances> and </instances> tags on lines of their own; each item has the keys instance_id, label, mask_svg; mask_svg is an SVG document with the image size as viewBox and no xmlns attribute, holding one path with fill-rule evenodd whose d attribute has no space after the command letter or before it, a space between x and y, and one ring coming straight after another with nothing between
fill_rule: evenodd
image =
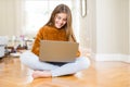
<instances>
[{"instance_id":1,"label":"white baseboard along the bottom of the right wall","mask_svg":"<svg viewBox=\"0 0 130 87\"><path fill-rule=\"evenodd\" d=\"M121 61L130 63L129 54L92 54L92 59L95 61Z\"/></svg>"}]
</instances>

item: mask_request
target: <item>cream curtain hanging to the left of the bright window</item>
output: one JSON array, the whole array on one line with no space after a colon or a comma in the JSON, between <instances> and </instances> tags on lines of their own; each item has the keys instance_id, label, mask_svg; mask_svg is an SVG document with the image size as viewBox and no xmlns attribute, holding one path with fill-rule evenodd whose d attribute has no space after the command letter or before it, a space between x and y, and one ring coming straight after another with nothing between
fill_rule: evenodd
<instances>
[{"instance_id":1,"label":"cream curtain hanging to the left of the bright window","mask_svg":"<svg viewBox=\"0 0 130 87\"><path fill-rule=\"evenodd\" d=\"M20 35L24 25L24 0L0 0L0 35Z\"/></svg>"}]
</instances>

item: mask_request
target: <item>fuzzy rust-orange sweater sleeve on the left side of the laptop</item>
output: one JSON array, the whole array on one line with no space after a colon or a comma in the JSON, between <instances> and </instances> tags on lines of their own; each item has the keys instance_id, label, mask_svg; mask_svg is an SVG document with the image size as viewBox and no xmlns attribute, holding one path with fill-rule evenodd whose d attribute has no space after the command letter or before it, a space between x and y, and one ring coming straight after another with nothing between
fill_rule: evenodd
<instances>
[{"instance_id":1,"label":"fuzzy rust-orange sweater sleeve on the left side of the laptop","mask_svg":"<svg viewBox=\"0 0 130 87\"><path fill-rule=\"evenodd\" d=\"M43 39L43 34L44 34L44 30L43 30L43 27L41 27L35 38L31 52L34 52L37 55L39 55L40 40Z\"/></svg>"}]
</instances>

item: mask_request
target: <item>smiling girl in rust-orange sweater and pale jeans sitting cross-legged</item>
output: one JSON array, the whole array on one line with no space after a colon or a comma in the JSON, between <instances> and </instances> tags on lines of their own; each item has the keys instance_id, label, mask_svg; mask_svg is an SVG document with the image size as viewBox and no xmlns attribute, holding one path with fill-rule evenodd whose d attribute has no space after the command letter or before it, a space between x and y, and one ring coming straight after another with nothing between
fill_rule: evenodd
<instances>
[{"instance_id":1,"label":"smiling girl in rust-orange sweater and pale jeans sitting cross-legged","mask_svg":"<svg viewBox=\"0 0 130 87\"><path fill-rule=\"evenodd\" d=\"M39 44L41 39L76 41L72 28L72 12L67 5L58 4L54 9L49 22L39 29L31 51L26 51L21 55L21 62L35 70L32 73L34 78L75 74L76 72L89 67L89 59L79 57L80 52L77 53L76 61L72 63L49 63L39 61Z\"/></svg>"}]
</instances>

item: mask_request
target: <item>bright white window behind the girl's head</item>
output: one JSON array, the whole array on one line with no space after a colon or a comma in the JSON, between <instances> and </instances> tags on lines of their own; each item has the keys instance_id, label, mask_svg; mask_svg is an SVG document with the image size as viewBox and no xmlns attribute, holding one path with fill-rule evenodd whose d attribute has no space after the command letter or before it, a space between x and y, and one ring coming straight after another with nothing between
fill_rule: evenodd
<instances>
[{"instance_id":1,"label":"bright white window behind the girl's head","mask_svg":"<svg viewBox=\"0 0 130 87\"><path fill-rule=\"evenodd\" d=\"M35 36L38 29L50 18L53 9L65 3L72 9L70 0L25 0L24 35Z\"/></svg>"}]
</instances>

